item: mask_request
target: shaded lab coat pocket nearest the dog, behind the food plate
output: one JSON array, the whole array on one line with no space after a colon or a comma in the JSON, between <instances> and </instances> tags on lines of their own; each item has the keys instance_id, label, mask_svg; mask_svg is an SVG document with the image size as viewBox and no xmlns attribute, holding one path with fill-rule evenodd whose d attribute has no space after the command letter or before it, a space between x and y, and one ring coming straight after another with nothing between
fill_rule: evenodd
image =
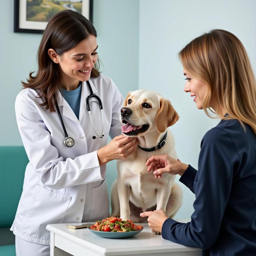
<instances>
[{"instance_id":1,"label":"shaded lab coat pocket nearest the dog, behind the food plate","mask_svg":"<svg viewBox=\"0 0 256 256\"><path fill-rule=\"evenodd\" d=\"M92 188L92 204L88 221L102 220L109 217L109 200L107 179L95 188Z\"/></svg>"}]
</instances>

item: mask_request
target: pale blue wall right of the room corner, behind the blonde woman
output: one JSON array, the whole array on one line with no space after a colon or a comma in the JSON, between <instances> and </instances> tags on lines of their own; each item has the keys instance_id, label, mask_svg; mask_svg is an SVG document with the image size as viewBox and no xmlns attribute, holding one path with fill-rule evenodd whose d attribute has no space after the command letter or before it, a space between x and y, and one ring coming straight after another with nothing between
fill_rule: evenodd
<instances>
[{"instance_id":1,"label":"pale blue wall right of the room corner, behind the blonde woman","mask_svg":"<svg viewBox=\"0 0 256 256\"><path fill-rule=\"evenodd\" d=\"M180 120L171 127L180 160L197 168L200 142L219 120L210 119L189 93L177 53L192 39L214 28L234 33L244 44L256 74L256 1L140 0L139 88L171 100ZM180 177L180 176L179 176ZM181 184L181 183L179 183ZM183 205L177 218L193 212L192 192L181 184Z\"/></svg>"}]
</instances>

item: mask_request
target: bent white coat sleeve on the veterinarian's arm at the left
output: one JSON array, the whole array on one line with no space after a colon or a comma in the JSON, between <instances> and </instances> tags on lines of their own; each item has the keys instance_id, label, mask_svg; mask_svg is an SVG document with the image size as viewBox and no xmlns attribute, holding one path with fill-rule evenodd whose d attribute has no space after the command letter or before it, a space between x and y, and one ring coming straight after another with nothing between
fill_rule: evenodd
<instances>
[{"instance_id":1,"label":"bent white coat sleeve on the veterinarian's arm at the left","mask_svg":"<svg viewBox=\"0 0 256 256\"><path fill-rule=\"evenodd\" d=\"M36 106L25 96L16 97L15 113L28 159L44 185L61 189L103 180L97 151L63 161Z\"/></svg>"}]
</instances>

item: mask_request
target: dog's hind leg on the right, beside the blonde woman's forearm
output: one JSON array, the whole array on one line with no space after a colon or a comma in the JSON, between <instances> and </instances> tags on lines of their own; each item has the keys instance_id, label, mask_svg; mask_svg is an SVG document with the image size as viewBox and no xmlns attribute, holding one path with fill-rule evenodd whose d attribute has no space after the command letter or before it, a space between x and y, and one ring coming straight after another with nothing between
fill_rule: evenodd
<instances>
[{"instance_id":1,"label":"dog's hind leg on the right, beside the blonde woman's forearm","mask_svg":"<svg viewBox=\"0 0 256 256\"><path fill-rule=\"evenodd\" d=\"M176 212L180 209L182 204L183 191L176 182L173 183L171 189L171 196L167 202L166 215L168 218L173 218Z\"/></svg>"}]
</instances>

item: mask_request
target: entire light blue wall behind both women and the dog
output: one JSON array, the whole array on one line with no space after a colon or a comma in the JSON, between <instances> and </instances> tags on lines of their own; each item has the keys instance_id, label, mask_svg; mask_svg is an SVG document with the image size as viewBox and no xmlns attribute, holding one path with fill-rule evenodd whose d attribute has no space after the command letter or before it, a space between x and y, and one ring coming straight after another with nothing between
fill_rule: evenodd
<instances>
[{"instance_id":1,"label":"entire light blue wall behind both women and the dog","mask_svg":"<svg viewBox=\"0 0 256 256\"><path fill-rule=\"evenodd\" d=\"M0 0L0 145L22 145L14 101L31 70L41 35L13 33L13 2ZM180 120L171 127L181 161L197 168L200 141L218 121L196 109L183 92L177 53L190 40L212 28L234 33L244 44L256 69L256 2L94 0L94 25L104 74L125 96L138 88L154 90L172 101ZM3 122L4 120L4 122ZM116 178L116 161L108 163L108 189ZM182 184L181 184L182 186ZM189 218L194 195L184 186L184 200L176 218Z\"/></svg>"}]
</instances>

